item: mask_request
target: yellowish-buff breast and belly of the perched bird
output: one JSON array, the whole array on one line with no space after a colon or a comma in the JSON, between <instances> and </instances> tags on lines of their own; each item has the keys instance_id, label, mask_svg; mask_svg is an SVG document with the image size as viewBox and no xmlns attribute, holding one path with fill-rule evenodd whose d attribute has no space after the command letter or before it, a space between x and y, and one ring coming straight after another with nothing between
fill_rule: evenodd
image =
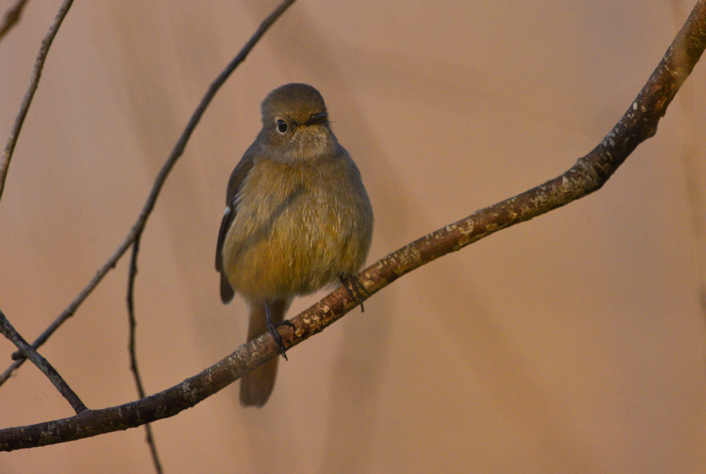
<instances>
[{"instance_id":1,"label":"yellowish-buff breast and belly of the perched bird","mask_svg":"<svg viewBox=\"0 0 706 474\"><path fill-rule=\"evenodd\" d=\"M361 255L357 199L342 199L357 192L346 171L335 162L253 166L224 242L234 290L249 300L291 297L357 270L367 248Z\"/></svg>"}]
</instances>

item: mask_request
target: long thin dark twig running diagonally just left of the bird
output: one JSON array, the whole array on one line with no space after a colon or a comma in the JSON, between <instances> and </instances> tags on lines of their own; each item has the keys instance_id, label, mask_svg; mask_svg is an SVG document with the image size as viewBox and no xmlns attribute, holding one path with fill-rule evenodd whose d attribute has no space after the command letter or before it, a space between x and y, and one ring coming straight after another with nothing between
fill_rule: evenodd
<instances>
[{"instance_id":1,"label":"long thin dark twig running diagonally just left of the bird","mask_svg":"<svg viewBox=\"0 0 706 474\"><path fill-rule=\"evenodd\" d=\"M100 281L103 279L103 277L108 273L109 270L114 268L116 262L123 256L125 251L130 247L130 245L138 239L140 232L145 227L145 223L147 223L147 219L150 216L150 213L152 212L152 208L155 207L155 202L157 201L157 196L160 194L160 190L162 189L162 186L164 185L164 182L167 180L167 175L169 172L172 170L172 167L174 167L174 163L177 162L179 157L181 156L182 153L184 153L184 148L186 148L186 142L189 141L189 137L191 136L191 133L193 132L193 129L196 128L196 124L198 124L198 121L201 119L201 116L203 115L203 112L205 112L206 107L210 104L211 100L217 93L218 89L220 86L225 83L226 79L230 74L234 71L234 69L242 62L244 59L247 57L251 49L257 44L257 42L260 40L260 38L265 34L265 31L270 28L270 26L275 23L275 20L277 18L280 18L282 16L282 13L285 13L285 10L289 8L290 5L292 5L296 0L285 0L282 1L282 3L275 8L273 13L270 13L270 16L265 18L263 22L260 24L260 27L258 30L256 30L255 34L246 42L245 46L240 50L240 52L237 54L236 57L228 64L226 69L220 75L213 81L213 83L210 85L208 88L208 91L206 92L205 96L201 100L201 103L196 107L196 110L193 112L193 115L191 115L191 119L189 119L189 124L186 125L186 129L181 133L181 136L179 137L179 141L177 141L177 145L174 146L174 150L172 150L171 155L169 155L169 158L167 158L167 161L164 162L164 165L162 165L162 169L160 172L157 174L157 177L155 178L155 184L152 186L152 190L150 191L150 195L148 196L147 201L145 202L145 206L143 207L142 211L140 212L140 215L138 216L136 222L133 224L133 227L131 228L130 232L128 232L127 237L125 237L124 241L119 245L119 247L114 251L112 256L104 263L104 265L97 271L97 273L94 275L94 277L90 280L88 285L81 290L81 292L78 294L75 300L71 302L71 304L68 305L66 309L64 309L64 312L59 314L59 317L57 317L52 324L50 324L47 329L44 330L44 332L32 343L33 348L39 348L44 342L47 341L49 336L52 336L54 331L56 331L61 324L64 324L64 321L66 319L70 318L73 316L73 313L76 312L76 309L80 306L81 303L83 303L83 300L90 295L90 292L100 283ZM0 385L4 384L4 382L10 377L12 372L20 367L22 365L23 360L16 360L10 367L8 367L5 372L0 374Z\"/></svg>"}]
</instances>

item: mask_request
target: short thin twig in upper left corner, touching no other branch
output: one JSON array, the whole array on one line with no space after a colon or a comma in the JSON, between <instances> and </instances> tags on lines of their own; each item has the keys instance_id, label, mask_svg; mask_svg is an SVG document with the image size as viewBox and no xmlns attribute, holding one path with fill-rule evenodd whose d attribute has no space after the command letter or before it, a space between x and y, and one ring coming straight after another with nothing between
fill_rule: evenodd
<instances>
[{"instance_id":1,"label":"short thin twig in upper left corner, touching no other branch","mask_svg":"<svg viewBox=\"0 0 706 474\"><path fill-rule=\"evenodd\" d=\"M30 86L25 93L25 97L22 100L22 105L20 105L20 112L18 112L15 118L15 124L13 124L10 131L10 137L8 138L5 150L3 150L2 157L0 158L0 198L2 198L2 191L5 189L5 179L7 177L7 172L10 167L10 160L12 160L12 153L15 150L17 144L17 138L20 136L20 130L22 129L22 124L25 122L25 117L27 117L27 112L32 104L32 99L35 97L35 91L37 90L37 85L40 83L40 77L42 76L42 69L44 68L44 61L47 59L47 53L49 53L49 48L52 47L52 42L56 36L56 32L59 31L59 26L61 22L66 18L66 13L68 9L71 8L73 0L64 0L64 4L59 8L59 13L56 13L54 18L54 23L49 27L49 32L47 36L42 40L42 47L40 47L40 52L37 54L37 60L35 61L35 67L32 69L32 77L30 78Z\"/></svg>"}]
</instances>

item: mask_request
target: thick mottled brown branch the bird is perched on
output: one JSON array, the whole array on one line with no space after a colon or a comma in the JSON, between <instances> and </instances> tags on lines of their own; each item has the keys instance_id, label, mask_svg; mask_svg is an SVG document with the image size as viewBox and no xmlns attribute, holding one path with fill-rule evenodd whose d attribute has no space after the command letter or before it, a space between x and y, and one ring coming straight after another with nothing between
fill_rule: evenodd
<instances>
[{"instance_id":1,"label":"thick mottled brown branch the bird is perched on","mask_svg":"<svg viewBox=\"0 0 706 474\"><path fill-rule=\"evenodd\" d=\"M366 294L372 295L414 268L504 227L530 220L599 189L640 142L654 135L666 107L701 57L706 46L705 1L698 1L638 98L591 153L555 179L481 209L385 256L359 275ZM323 331L356 304L345 288L338 288L294 317L291 320L294 329L282 326L285 346L291 347ZM142 400L89 410L63 420L2 429L0 450L61 443L176 415L231 384L246 371L276 357L278 352L273 339L264 334L241 345L201 374Z\"/></svg>"}]
</instances>

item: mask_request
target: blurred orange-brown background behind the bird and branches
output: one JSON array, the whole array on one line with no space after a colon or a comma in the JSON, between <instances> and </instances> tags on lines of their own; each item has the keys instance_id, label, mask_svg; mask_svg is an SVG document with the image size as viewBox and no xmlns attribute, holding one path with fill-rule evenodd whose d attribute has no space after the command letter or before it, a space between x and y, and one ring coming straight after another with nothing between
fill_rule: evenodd
<instances>
[{"instance_id":1,"label":"blurred orange-brown background behind the bird and branches","mask_svg":"<svg viewBox=\"0 0 706 474\"><path fill-rule=\"evenodd\" d=\"M3 145L60 3L30 1L0 42ZM150 393L244 341L245 304L220 303L213 256L229 172L270 90L321 90L373 202L373 263L570 167L627 109L693 6L365 3L294 4L169 177L137 278ZM206 88L275 4L74 4L0 201L0 307L25 338L124 239ZM688 182L706 181L705 93L698 64L657 136L604 189L424 266L292 349L265 408L242 409L234 384L155 423L165 472L704 472L705 242L692 214L706 202ZM127 262L41 351L90 408L136 398ZM0 370L12 351L0 340ZM1 427L69 415L29 364L0 389ZM149 473L143 439L138 428L3 453L0 472Z\"/></svg>"}]
</instances>

